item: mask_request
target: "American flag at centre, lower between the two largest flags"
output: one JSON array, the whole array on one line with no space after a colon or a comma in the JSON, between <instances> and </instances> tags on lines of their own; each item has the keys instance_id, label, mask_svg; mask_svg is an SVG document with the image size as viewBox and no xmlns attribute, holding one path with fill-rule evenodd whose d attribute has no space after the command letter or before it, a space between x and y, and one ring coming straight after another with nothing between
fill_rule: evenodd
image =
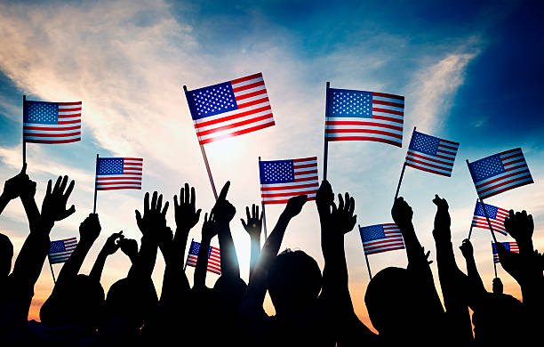
<instances>
[{"instance_id":1,"label":"American flag at centre, lower between the two largest flags","mask_svg":"<svg viewBox=\"0 0 544 347\"><path fill-rule=\"evenodd\" d=\"M263 204L284 204L290 198L308 195L316 199L319 189L317 157L260 161L260 198Z\"/></svg>"}]
</instances>

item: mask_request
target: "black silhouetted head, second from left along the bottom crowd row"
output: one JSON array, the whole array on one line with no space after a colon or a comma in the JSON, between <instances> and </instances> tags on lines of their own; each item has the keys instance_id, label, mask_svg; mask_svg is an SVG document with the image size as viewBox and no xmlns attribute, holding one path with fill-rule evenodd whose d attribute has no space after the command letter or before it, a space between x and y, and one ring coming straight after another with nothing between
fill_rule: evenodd
<instances>
[{"instance_id":1,"label":"black silhouetted head, second from left along the bottom crowd row","mask_svg":"<svg viewBox=\"0 0 544 347\"><path fill-rule=\"evenodd\" d=\"M155 286L149 279L140 281L132 278L119 279L109 287L106 298L106 316L123 318L134 329L140 328L146 317L156 308L158 298Z\"/></svg>"}]
</instances>

